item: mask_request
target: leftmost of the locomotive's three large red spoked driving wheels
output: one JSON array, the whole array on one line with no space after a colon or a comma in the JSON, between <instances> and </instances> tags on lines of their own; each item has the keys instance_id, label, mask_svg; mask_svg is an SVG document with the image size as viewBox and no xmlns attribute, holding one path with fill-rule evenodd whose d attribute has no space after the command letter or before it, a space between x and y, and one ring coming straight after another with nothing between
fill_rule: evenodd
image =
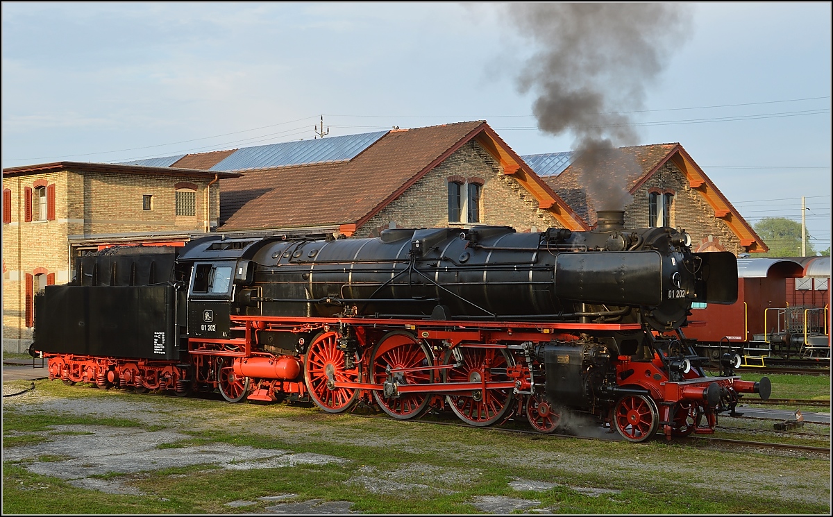
<instances>
[{"instance_id":1,"label":"leftmost of the locomotive's three large red spoked driving wheels","mask_svg":"<svg viewBox=\"0 0 833 517\"><path fill-rule=\"evenodd\" d=\"M360 382L357 366L347 370L344 352L338 350L338 333L325 332L312 341L304 358L304 382L315 404L327 413L342 413L356 402L359 390L336 388L330 380Z\"/></svg>"}]
</instances>

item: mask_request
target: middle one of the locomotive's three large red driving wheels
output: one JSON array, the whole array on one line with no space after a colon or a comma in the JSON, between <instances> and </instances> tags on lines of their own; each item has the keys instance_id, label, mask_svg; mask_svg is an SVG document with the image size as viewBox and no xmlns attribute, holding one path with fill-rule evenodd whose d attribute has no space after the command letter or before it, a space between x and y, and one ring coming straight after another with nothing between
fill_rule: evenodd
<instances>
[{"instance_id":1,"label":"middle one of the locomotive's three large red driving wheels","mask_svg":"<svg viewBox=\"0 0 833 517\"><path fill-rule=\"evenodd\" d=\"M387 380L387 369L419 368L433 365L431 352L412 334L394 331L382 337L373 349L372 380L382 384ZM400 385L427 384L434 380L431 370L393 372L392 377ZM399 420L415 418L428 407L428 393L405 393L397 397L385 397L382 391L373 391L373 398L388 415Z\"/></svg>"}]
</instances>

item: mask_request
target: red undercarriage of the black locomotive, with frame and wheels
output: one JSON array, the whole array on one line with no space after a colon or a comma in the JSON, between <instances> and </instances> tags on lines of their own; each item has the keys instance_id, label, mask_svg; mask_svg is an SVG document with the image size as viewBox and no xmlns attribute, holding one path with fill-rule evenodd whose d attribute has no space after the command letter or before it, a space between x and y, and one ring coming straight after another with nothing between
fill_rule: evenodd
<instances>
[{"instance_id":1,"label":"red undercarriage of the black locomotive, with frame and wheels","mask_svg":"<svg viewBox=\"0 0 833 517\"><path fill-rule=\"evenodd\" d=\"M390 320L366 317L232 316L232 339L187 340L184 360L127 360L45 354L49 378L67 384L93 382L147 390L219 389L231 402L312 400L340 413L373 402L393 418L407 420L431 408L451 409L469 425L526 416L541 432L556 430L561 412L552 407L539 380L543 365L531 350L551 341L572 342L582 334L641 331L640 324L506 321ZM308 336L301 353L262 351L258 331ZM353 336L351 346L343 338ZM372 336L372 339L369 337ZM694 370L672 381L663 358L635 361L611 357L621 396L591 411L626 440L642 441L659 431L711 434L721 396L757 392L755 382L727 375L702 377ZM303 363L301 362L303 361ZM722 395L721 395L722 394ZM716 400L717 397L717 400Z\"/></svg>"}]
</instances>

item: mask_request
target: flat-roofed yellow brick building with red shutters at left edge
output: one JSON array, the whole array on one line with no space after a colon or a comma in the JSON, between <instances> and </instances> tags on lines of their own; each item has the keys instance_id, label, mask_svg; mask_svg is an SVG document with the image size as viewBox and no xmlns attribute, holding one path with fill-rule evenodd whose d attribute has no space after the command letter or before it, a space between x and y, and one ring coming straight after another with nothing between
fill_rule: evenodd
<instances>
[{"instance_id":1,"label":"flat-roofed yellow brick building with red shutters at left edge","mask_svg":"<svg viewBox=\"0 0 833 517\"><path fill-rule=\"evenodd\" d=\"M3 350L26 350L33 295L70 281L83 250L181 242L216 226L217 182L228 176L238 175L83 162L3 169Z\"/></svg>"}]
</instances>

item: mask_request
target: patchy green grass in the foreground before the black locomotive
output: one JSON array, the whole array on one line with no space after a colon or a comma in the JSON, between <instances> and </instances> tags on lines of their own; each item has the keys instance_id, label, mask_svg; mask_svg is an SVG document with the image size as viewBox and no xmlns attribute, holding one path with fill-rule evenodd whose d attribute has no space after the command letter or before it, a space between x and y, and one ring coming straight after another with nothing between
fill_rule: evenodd
<instances>
[{"instance_id":1,"label":"patchy green grass in the foreground before the black locomotive","mask_svg":"<svg viewBox=\"0 0 833 517\"><path fill-rule=\"evenodd\" d=\"M829 398L830 386L822 385L819 378L776 380L775 377L796 376L774 375L773 397L826 395ZM781 386L785 394L793 395L779 394L776 386ZM796 386L815 395L795 395ZM34 474L25 468L25 463L6 461L2 487L4 514L248 514L277 504L257 501L258 497L282 494L296 495L282 503L347 500L353 503L353 510L378 514L481 513L472 502L482 495L537 500L541 502L540 508L560 514L723 515L771 514L775 510L785 515L827 515L830 512L829 459L701 450L664 440L629 444L510 435L433 423L328 415L290 405L232 405L217 400L136 395L82 385L70 387L47 380L37 381L36 391L61 399L109 397L142 406L149 404L164 425L156 423L157 420L148 423L139 415L118 418L92 413L54 413L37 408L22 410L17 405L4 405L4 448L59 440L62 434L87 434L55 430L55 425L75 424L88 429L108 425L142 430L167 427L189 438L157 445L160 450L210 448L213 444L248 445L295 454L332 455L346 461L259 470L189 465L96 476L100 480L118 480L146 495L110 495L85 490L52 476ZM136 408L140 410L139 405ZM721 424L724 423L721 417ZM826 443L829 445L829 439ZM31 461L66 459L43 453ZM806 482L811 488L804 490L817 494L818 500L785 497L785 493L795 492L797 485L779 485L779 478L773 474L776 472L796 476L799 478L796 483ZM365 485L358 481L362 477L377 481ZM516 478L558 485L541 492L518 491L508 485ZM392 493L374 491L387 483L405 486ZM422 490L416 485L432 488ZM619 492L591 497L576 490L580 487ZM257 503L241 508L226 505L235 500Z\"/></svg>"}]
</instances>

